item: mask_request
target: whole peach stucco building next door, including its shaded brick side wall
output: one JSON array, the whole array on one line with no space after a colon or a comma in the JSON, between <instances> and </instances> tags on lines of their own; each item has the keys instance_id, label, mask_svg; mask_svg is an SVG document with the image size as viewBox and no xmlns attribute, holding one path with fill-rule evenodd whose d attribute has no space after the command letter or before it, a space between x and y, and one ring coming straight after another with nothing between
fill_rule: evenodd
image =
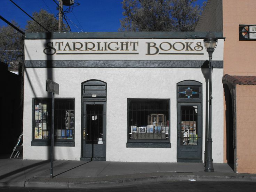
<instances>
[{"instance_id":1,"label":"whole peach stucco building next door, including its shaded brick side wall","mask_svg":"<svg viewBox=\"0 0 256 192\"><path fill-rule=\"evenodd\" d=\"M240 34L245 40L239 38L239 25L256 25L255 18L255 0L208 0L195 29L223 32L226 38L223 61L224 162L230 163L238 173L256 173L253 144L256 135L256 39L250 39L254 38L252 33L246 36L249 27Z\"/></svg>"}]
</instances>

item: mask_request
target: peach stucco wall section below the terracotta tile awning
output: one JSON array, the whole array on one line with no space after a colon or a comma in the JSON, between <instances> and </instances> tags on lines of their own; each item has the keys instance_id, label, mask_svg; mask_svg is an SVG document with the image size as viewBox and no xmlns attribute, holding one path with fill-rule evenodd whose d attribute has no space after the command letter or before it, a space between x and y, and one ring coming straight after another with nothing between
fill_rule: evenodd
<instances>
[{"instance_id":1,"label":"peach stucco wall section below the terracotta tile awning","mask_svg":"<svg viewBox=\"0 0 256 192\"><path fill-rule=\"evenodd\" d=\"M256 173L256 86L237 85L237 172Z\"/></svg>"}]
</instances>

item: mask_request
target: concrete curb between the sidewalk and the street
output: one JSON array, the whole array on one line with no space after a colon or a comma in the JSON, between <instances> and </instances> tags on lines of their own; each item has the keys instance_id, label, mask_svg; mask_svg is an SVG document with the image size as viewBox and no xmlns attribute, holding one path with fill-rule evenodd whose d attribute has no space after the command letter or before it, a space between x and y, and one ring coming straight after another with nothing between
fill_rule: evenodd
<instances>
[{"instance_id":1,"label":"concrete curb between the sidewalk and the street","mask_svg":"<svg viewBox=\"0 0 256 192\"><path fill-rule=\"evenodd\" d=\"M120 175L123 177L123 175ZM95 179L95 180L94 180ZM123 178L111 179L108 177L101 178L45 178L34 177L25 182L25 187L35 188L58 188L58 189L73 189L73 188L102 188L102 187L121 187L129 185L139 185L146 183L158 182L177 182L177 181L212 181L212 182L256 182L256 176L207 176L207 175L164 175L150 176L141 178ZM14 183L14 182L11 182ZM22 187L23 187L22 186Z\"/></svg>"}]
</instances>

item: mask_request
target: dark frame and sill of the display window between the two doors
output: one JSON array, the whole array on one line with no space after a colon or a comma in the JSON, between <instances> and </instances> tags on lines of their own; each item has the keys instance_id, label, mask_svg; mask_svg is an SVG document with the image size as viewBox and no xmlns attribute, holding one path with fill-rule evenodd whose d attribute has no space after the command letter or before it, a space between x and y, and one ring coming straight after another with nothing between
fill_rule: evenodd
<instances>
[{"instance_id":1,"label":"dark frame and sill of the display window between the two doors","mask_svg":"<svg viewBox=\"0 0 256 192\"><path fill-rule=\"evenodd\" d=\"M167 101L168 102L168 139L130 139L130 127L129 127L129 103L130 101ZM170 99L158 99L158 98L127 98L127 143L126 147L136 147L136 148L170 148Z\"/></svg>"}]
</instances>

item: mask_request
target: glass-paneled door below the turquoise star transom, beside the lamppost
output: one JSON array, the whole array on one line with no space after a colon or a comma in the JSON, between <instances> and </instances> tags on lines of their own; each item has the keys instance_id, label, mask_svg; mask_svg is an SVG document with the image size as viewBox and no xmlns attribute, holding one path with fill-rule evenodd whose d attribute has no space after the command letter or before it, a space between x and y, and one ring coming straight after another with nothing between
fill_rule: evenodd
<instances>
[{"instance_id":1,"label":"glass-paneled door below the turquoise star transom, beside the lamppost","mask_svg":"<svg viewBox=\"0 0 256 192\"><path fill-rule=\"evenodd\" d=\"M177 161L202 162L201 103L178 103Z\"/></svg>"}]
</instances>

